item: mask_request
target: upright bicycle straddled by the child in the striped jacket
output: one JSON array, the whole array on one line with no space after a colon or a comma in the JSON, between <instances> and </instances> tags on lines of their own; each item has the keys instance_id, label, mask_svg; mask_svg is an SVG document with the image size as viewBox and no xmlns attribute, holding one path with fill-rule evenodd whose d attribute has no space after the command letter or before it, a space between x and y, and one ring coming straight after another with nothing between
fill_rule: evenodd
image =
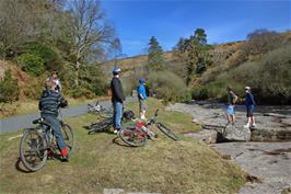
<instances>
[{"instance_id":1,"label":"upright bicycle straddled by the child in the striped jacket","mask_svg":"<svg viewBox=\"0 0 291 194\"><path fill-rule=\"evenodd\" d=\"M32 122L37 125L26 128L20 144L20 159L30 171L40 170L50 153L58 152L58 146L51 127L45 123L44 118ZM74 134L70 125L60 121L61 133L69 153L74 149Z\"/></svg>"}]
</instances>

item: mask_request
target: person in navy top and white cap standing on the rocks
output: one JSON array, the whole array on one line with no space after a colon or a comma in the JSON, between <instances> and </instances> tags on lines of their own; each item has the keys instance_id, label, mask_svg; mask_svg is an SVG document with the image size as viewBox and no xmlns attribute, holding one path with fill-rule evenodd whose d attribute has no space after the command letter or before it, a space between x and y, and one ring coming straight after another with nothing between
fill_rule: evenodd
<instances>
[{"instance_id":1,"label":"person in navy top and white cap standing on the rocks","mask_svg":"<svg viewBox=\"0 0 291 194\"><path fill-rule=\"evenodd\" d=\"M255 100L254 95L251 92L251 87L245 87L245 106L246 106L246 117L247 124L244 125L245 128L256 127L255 117L254 117L254 109L255 109Z\"/></svg>"}]
</instances>

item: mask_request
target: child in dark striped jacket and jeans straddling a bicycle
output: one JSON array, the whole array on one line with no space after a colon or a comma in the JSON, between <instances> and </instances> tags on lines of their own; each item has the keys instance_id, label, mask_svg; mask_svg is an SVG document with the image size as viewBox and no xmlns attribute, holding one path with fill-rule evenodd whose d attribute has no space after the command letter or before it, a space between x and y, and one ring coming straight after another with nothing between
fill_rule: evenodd
<instances>
[{"instance_id":1,"label":"child in dark striped jacket and jeans straddling a bicycle","mask_svg":"<svg viewBox=\"0 0 291 194\"><path fill-rule=\"evenodd\" d=\"M56 83L54 82L54 80L46 80L45 87L46 89L40 96L38 109L40 111L42 117L45 119L45 123L47 123L54 132L54 136L56 137L58 147L60 149L62 161L68 161L69 153L61 135L61 125L58 119L59 107L67 106L68 102L61 96L59 92L55 90Z\"/></svg>"}]
</instances>

